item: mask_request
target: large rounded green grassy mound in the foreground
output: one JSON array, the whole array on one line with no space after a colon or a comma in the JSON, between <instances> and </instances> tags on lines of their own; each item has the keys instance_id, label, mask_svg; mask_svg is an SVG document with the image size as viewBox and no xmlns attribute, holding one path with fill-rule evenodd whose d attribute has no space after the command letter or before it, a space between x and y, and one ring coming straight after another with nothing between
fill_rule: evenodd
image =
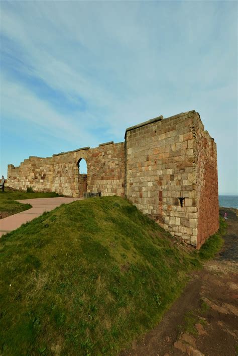
<instances>
[{"instance_id":1,"label":"large rounded green grassy mound in the foreground","mask_svg":"<svg viewBox=\"0 0 238 356\"><path fill-rule=\"evenodd\" d=\"M62 205L5 235L0 251L3 354L115 354L199 265L118 197Z\"/></svg>"}]
</instances>

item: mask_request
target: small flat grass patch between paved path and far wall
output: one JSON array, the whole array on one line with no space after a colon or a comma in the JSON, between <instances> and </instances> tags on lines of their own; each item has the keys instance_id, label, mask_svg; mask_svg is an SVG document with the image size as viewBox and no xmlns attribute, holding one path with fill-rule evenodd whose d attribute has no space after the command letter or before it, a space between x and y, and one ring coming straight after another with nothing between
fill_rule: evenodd
<instances>
[{"instance_id":1,"label":"small flat grass patch between paved path and far wall","mask_svg":"<svg viewBox=\"0 0 238 356\"><path fill-rule=\"evenodd\" d=\"M58 197L57 193L26 193L26 192L11 192L5 190L0 192L0 212L8 212L9 215L20 213L21 211L28 210L32 206L30 204L22 204L16 202L21 199L32 198L53 198Z\"/></svg>"}]
</instances>

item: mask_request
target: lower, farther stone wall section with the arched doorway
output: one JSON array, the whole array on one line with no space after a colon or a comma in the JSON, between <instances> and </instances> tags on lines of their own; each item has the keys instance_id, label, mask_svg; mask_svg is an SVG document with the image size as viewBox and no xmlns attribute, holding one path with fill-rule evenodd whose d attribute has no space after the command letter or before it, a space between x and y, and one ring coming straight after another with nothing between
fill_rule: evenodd
<instances>
[{"instance_id":1,"label":"lower, farther stone wall section with the arched doorway","mask_svg":"<svg viewBox=\"0 0 238 356\"><path fill-rule=\"evenodd\" d=\"M105 143L96 148L85 147L52 157L29 157L14 167L8 165L8 187L26 191L32 187L36 192L57 192L78 197L84 187L78 164L87 162L87 192L101 192L102 196L125 196L125 144Z\"/></svg>"}]
</instances>

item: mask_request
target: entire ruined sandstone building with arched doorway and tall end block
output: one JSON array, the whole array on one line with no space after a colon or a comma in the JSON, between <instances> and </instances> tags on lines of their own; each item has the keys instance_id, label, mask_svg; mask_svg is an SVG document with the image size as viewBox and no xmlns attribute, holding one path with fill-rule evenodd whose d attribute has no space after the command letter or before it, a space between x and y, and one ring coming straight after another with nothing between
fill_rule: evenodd
<instances>
[{"instance_id":1,"label":"entire ruined sandstone building with arched doorway and tall end block","mask_svg":"<svg viewBox=\"0 0 238 356\"><path fill-rule=\"evenodd\" d=\"M87 175L79 174L82 158ZM197 248L219 227L216 144L194 110L129 127L124 142L9 164L7 186L69 197L126 197Z\"/></svg>"}]
</instances>

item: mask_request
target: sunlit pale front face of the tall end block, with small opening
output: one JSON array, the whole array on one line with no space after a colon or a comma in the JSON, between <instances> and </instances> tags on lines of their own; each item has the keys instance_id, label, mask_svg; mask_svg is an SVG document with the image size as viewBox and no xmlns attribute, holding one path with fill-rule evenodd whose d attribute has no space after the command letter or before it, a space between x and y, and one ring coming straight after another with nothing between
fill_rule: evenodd
<instances>
[{"instance_id":1,"label":"sunlit pale front face of the tall end block, with small opening","mask_svg":"<svg viewBox=\"0 0 238 356\"><path fill-rule=\"evenodd\" d=\"M126 132L127 198L172 235L196 245L197 206L192 123L182 113ZM181 206L179 198L182 200Z\"/></svg>"}]
</instances>

